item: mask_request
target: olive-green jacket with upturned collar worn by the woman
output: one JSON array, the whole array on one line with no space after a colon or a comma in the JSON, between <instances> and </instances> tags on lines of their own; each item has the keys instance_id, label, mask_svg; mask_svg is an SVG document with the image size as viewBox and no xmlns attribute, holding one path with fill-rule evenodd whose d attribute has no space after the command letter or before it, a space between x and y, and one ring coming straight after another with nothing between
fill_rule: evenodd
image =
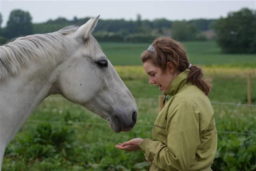
<instances>
[{"instance_id":1,"label":"olive-green jacket with upturned collar worn by the woman","mask_svg":"<svg viewBox=\"0 0 256 171\"><path fill-rule=\"evenodd\" d=\"M151 171L210 171L217 150L211 103L197 86L187 83L186 70L175 77L166 94L173 96L153 127L153 140L140 149L152 161Z\"/></svg>"}]
</instances>

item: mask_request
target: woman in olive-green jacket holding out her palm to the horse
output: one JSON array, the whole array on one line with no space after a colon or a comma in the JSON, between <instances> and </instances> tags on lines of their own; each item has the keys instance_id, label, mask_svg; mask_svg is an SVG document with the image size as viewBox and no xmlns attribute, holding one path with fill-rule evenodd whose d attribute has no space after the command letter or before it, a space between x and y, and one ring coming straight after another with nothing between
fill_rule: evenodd
<instances>
[{"instance_id":1,"label":"woman in olive-green jacket holding out her palm to the horse","mask_svg":"<svg viewBox=\"0 0 256 171\"><path fill-rule=\"evenodd\" d=\"M210 171L217 150L217 130L208 94L211 85L201 69L188 62L185 48L157 38L141 55L149 84L173 96L160 111L153 140L134 138L116 148L145 152L150 170Z\"/></svg>"}]
</instances>

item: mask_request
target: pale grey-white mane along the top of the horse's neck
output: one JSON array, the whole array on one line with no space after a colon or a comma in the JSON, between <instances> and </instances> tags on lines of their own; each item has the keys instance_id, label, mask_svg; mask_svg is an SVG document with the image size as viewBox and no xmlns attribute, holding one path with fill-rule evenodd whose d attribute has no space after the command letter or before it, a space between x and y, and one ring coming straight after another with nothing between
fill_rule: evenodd
<instances>
[{"instance_id":1,"label":"pale grey-white mane along the top of the horse's neck","mask_svg":"<svg viewBox=\"0 0 256 171\"><path fill-rule=\"evenodd\" d=\"M34 34L11 40L0 46L0 81L8 75L17 75L21 67L27 66L31 60L55 59L68 53L65 35L78 30L69 26L57 32Z\"/></svg>"}]
</instances>

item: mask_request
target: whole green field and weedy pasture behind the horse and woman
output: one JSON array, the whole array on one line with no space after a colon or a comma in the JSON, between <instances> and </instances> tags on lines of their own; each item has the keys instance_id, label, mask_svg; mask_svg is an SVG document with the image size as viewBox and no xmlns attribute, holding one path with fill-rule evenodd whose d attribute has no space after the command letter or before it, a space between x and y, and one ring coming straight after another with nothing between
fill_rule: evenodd
<instances>
[{"instance_id":1,"label":"whole green field and weedy pasture behind the horse and woman","mask_svg":"<svg viewBox=\"0 0 256 171\"><path fill-rule=\"evenodd\" d=\"M218 130L218 150L212 170L256 170L255 55L220 54L214 42L185 45L191 63L201 64L205 77L212 79L209 99ZM140 53L148 45L104 43L101 46L136 100L139 115L134 129L114 133L107 121L96 114L60 95L52 95L37 107L7 146L3 171L148 170L149 164L141 151L115 149L115 144L135 137L152 138L158 96L162 93L158 87L148 84L141 66ZM250 107L244 105L249 72Z\"/></svg>"}]
</instances>

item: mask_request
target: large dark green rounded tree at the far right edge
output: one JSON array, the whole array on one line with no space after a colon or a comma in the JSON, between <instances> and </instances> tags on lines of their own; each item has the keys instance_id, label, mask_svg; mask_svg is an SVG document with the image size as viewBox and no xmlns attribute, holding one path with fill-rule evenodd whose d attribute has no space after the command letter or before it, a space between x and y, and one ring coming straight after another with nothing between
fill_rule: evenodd
<instances>
[{"instance_id":1,"label":"large dark green rounded tree at the far right edge","mask_svg":"<svg viewBox=\"0 0 256 171\"><path fill-rule=\"evenodd\" d=\"M243 8L220 18L216 41L224 53L256 53L256 11Z\"/></svg>"}]
</instances>

